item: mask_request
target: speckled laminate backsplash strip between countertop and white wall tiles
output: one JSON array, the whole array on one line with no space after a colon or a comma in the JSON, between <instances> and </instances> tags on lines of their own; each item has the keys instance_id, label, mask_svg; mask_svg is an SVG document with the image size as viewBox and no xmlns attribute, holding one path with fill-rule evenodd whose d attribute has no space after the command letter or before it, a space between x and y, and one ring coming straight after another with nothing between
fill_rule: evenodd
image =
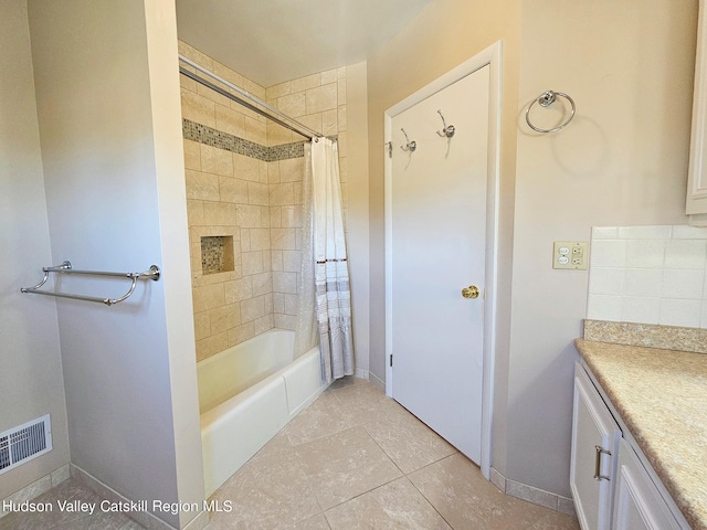
<instances>
[{"instance_id":1,"label":"speckled laminate backsplash strip between countertop and white wall tiles","mask_svg":"<svg viewBox=\"0 0 707 530\"><path fill-rule=\"evenodd\" d=\"M707 353L707 329L700 328L587 319L584 320L584 339Z\"/></svg>"}]
</instances>

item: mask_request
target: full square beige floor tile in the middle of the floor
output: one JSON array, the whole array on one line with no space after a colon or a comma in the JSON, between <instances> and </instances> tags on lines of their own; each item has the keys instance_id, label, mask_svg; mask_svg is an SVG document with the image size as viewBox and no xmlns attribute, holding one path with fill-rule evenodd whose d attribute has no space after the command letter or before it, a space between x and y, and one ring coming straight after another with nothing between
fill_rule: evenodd
<instances>
[{"instance_id":1,"label":"full square beige floor tile in the middle of the floor","mask_svg":"<svg viewBox=\"0 0 707 530\"><path fill-rule=\"evenodd\" d=\"M400 469L362 427L296 447L323 510L400 477Z\"/></svg>"}]
</instances>

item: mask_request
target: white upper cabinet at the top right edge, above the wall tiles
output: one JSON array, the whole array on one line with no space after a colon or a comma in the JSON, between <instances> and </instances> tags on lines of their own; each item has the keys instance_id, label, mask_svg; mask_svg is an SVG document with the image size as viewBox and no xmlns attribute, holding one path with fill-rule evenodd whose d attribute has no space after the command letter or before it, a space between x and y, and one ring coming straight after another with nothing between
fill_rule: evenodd
<instances>
[{"instance_id":1,"label":"white upper cabinet at the top right edge, above the wall tiles","mask_svg":"<svg viewBox=\"0 0 707 530\"><path fill-rule=\"evenodd\" d=\"M686 213L707 225L707 0L699 1Z\"/></svg>"}]
</instances>

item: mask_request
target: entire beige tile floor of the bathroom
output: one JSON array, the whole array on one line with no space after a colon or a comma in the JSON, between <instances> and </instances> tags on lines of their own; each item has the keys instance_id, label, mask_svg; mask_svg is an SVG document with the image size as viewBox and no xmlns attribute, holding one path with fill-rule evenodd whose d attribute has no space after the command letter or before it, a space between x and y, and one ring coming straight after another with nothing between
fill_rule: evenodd
<instances>
[{"instance_id":1,"label":"entire beige tile floor of the bathroom","mask_svg":"<svg viewBox=\"0 0 707 530\"><path fill-rule=\"evenodd\" d=\"M95 501L70 479L35 501ZM506 496L371 383L337 381L212 497L209 530L579 530L574 517ZM0 530L138 530L122 515L12 513Z\"/></svg>"}]
</instances>

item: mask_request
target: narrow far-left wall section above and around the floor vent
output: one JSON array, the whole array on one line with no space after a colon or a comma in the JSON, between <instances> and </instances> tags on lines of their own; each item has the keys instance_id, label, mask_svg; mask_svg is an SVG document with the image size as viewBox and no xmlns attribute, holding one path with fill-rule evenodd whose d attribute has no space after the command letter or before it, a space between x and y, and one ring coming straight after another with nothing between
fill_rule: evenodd
<instances>
[{"instance_id":1,"label":"narrow far-left wall section above and around the floor vent","mask_svg":"<svg viewBox=\"0 0 707 530\"><path fill-rule=\"evenodd\" d=\"M20 294L52 263L24 0L0 4L0 432L49 413L54 447L3 473L1 500L68 464L68 435L56 305Z\"/></svg>"}]
</instances>

